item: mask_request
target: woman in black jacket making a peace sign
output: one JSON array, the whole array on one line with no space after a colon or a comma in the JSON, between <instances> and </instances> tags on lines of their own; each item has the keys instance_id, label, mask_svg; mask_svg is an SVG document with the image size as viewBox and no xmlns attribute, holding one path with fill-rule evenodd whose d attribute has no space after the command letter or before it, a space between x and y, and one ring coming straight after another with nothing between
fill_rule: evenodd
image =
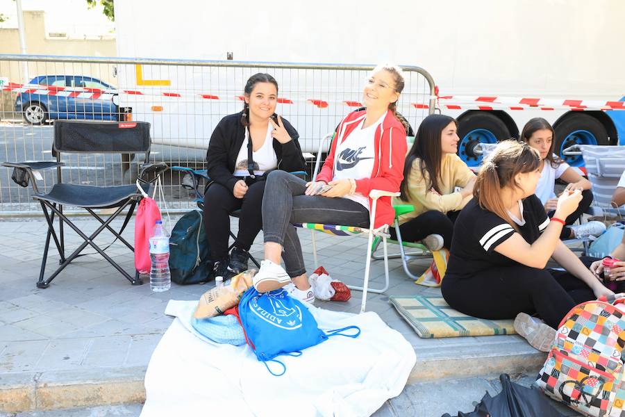
<instances>
[{"instance_id":1,"label":"woman in black jacket making a peace sign","mask_svg":"<svg viewBox=\"0 0 625 417\"><path fill-rule=\"evenodd\" d=\"M213 183L204 195L204 227L215 276L224 280L247 270L249 248L263 227L266 174L276 169L300 171L306 164L299 134L275 114L278 83L274 77L251 76L244 101L242 111L219 121L206 153ZM239 232L228 259L229 215L239 208Z\"/></svg>"}]
</instances>

